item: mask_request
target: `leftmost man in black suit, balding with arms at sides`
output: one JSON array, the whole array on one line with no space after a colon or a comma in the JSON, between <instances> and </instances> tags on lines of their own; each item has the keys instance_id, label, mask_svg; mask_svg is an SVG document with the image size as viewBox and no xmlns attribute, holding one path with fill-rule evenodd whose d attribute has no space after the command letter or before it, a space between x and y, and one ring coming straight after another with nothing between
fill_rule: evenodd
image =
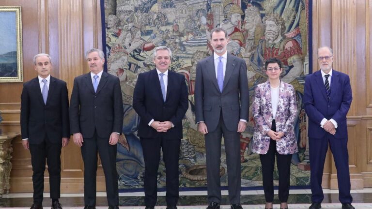
<instances>
[{"instance_id":1,"label":"leftmost man in black suit, balding with arms at sides","mask_svg":"<svg viewBox=\"0 0 372 209\"><path fill-rule=\"evenodd\" d=\"M61 149L70 140L66 82L50 76L50 56L33 58L36 78L24 83L21 95L22 145L30 149L33 183L31 209L42 209L47 159L52 209L62 209Z\"/></svg>"}]
</instances>

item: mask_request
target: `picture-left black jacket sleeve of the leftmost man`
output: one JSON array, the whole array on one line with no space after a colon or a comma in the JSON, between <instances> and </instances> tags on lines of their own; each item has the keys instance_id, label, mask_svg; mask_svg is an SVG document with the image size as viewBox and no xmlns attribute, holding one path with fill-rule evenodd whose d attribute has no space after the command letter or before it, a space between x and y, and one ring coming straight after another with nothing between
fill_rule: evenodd
<instances>
[{"instance_id":1,"label":"picture-left black jacket sleeve of the leftmost man","mask_svg":"<svg viewBox=\"0 0 372 209\"><path fill-rule=\"evenodd\" d=\"M30 98L27 87L23 85L21 94L21 135L22 139L29 137L29 115L30 115Z\"/></svg>"}]
</instances>

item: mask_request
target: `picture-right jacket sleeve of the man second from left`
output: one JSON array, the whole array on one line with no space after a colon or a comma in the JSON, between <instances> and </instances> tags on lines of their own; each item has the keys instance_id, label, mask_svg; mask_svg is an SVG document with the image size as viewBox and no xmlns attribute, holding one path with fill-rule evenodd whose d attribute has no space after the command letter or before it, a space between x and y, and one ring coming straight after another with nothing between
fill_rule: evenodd
<instances>
[{"instance_id":1,"label":"picture-right jacket sleeve of the man second from left","mask_svg":"<svg viewBox=\"0 0 372 209\"><path fill-rule=\"evenodd\" d=\"M123 109L122 89L120 88L120 81L118 77L115 77L113 105L114 105L114 124L112 127L112 132L122 134L124 109Z\"/></svg>"}]
</instances>

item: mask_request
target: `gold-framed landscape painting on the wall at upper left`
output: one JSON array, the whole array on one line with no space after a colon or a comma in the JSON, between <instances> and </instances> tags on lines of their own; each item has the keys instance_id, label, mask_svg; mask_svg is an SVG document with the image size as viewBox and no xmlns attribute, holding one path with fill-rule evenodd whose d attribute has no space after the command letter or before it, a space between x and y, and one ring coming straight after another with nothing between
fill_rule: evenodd
<instances>
[{"instance_id":1,"label":"gold-framed landscape painting on the wall at upper left","mask_svg":"<svg viewBox=\"0 0 372 209\"><path fill-rule=\"evenodd\" d=\"M23 82L20 6L0 7L0 82Z\"/></svg>"}]
</instances>

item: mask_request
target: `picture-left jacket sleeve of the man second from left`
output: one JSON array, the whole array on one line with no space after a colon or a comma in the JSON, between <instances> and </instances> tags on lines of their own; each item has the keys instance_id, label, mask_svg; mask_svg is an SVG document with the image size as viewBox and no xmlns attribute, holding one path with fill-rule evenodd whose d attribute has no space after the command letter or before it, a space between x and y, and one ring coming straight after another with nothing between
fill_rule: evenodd
<instances>
[{"instance_id":1,"label":"picture-left jacket sleeve of the man second from left","mask_svg":"<svg viewBox=\"0 0 372 209\"><path fill-rule=\"evenodd\" d=\"M74 79L74 87L71 93L70 100L70 131L71 134L80 132L79 124L80 99L79 99L79 85L78 79Z\"/></svg>"}]
</instances>

